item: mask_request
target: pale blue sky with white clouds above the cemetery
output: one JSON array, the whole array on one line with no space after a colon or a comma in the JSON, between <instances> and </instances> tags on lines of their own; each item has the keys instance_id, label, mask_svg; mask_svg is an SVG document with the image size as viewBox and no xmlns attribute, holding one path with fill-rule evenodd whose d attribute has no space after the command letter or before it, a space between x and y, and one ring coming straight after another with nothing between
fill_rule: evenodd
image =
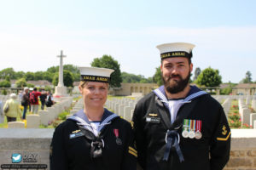
<instances>
[{"instance_id":1,"label":"pale blue sky with white clouds above the cemetery","mask_svg":"<svg viewBox=\"0 0 256 170\"><path fill-rule=\"evenodd\" d=\"M0 70L89 66L110 54L121 71L152 77L156 45L195 44L194 71L211 66L223 82L256 81L256 1L0 0ZM194 72L193 72L194 73Z\"/></svg>"}]
</instances>

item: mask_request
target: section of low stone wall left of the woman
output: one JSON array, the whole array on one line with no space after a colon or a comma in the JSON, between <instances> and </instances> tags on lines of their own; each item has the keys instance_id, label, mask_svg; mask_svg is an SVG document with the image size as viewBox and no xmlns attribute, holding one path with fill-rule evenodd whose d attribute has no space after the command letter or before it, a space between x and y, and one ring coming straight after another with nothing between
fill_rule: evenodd
<instances>
[{"instance_id":1,"label":"section of low stone wall left of the woman","mask_svg":"<svg viewBox=\"0 0 256 170\"><path fill-rule=\"evenodd\" d=\"M0 128L0 169L6 170L3 166L34 166L49 169L49 145L54 129L25 129L25 128ZM20 155L22 160L12 159L13 155ZM18 169L18 168L16 168ZM26 169L26 168L22 168Z\"/></svg>"}]
</instances>

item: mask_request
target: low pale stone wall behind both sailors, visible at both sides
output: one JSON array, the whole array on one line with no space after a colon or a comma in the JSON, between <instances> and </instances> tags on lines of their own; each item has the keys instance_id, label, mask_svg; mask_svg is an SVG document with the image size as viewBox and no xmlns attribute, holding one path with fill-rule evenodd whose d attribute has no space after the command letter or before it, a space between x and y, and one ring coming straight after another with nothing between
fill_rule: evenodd
<instances>
[{"instance_id":1,"label":"low pale stone wall behind both sailors, visible at both sides","mask_svg":"<svg viewBox=\"0 0 256 170\"><path fill-rule=\"evenodd\" d=\"M0 128L0 166L46 165L47 168L38 170L48 170L49 144L53 132L54 129ZM256 129L232 129L231 136L230 161L224 170L255 170ZM20 154L23 160L13 163L13 154ZM2 167L2 170L7 169Z\"/></svg>"}]
</instances>

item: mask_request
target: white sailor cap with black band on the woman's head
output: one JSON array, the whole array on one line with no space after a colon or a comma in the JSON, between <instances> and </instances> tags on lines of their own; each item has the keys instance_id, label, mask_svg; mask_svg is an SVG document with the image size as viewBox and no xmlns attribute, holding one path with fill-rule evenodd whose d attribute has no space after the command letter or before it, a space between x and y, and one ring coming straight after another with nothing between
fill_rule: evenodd
<instances>
[{"instance_id":1,"label":"white sailor cap with black band on the woman's head","mask_svg":"<svg viewBox=\"0 0 256 170\"><path fill-rule=\"evenodd\" d=\"M99 67L79 67L80 80L85 82L109 82L112 69Z\"/></svg>"}]
</instances>

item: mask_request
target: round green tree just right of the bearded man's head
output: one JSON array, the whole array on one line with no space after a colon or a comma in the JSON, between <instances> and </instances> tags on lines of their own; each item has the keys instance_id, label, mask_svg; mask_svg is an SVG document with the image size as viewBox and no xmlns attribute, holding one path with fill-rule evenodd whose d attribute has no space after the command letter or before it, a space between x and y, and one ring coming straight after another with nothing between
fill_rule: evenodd
<instances>
[{"instance_id":1,"label":"round green tree just right of the bearded man's head","mask_svg":"<svg viewBox=\"0 0 256 170\"><path fill-rule=\"evenodd\" d=\"M205 87L217 87L221 83L221 76L218 75L218 70L208 67L201 71L201 74L197 77L195 83Z\"/></svg>"}]
</instances>

